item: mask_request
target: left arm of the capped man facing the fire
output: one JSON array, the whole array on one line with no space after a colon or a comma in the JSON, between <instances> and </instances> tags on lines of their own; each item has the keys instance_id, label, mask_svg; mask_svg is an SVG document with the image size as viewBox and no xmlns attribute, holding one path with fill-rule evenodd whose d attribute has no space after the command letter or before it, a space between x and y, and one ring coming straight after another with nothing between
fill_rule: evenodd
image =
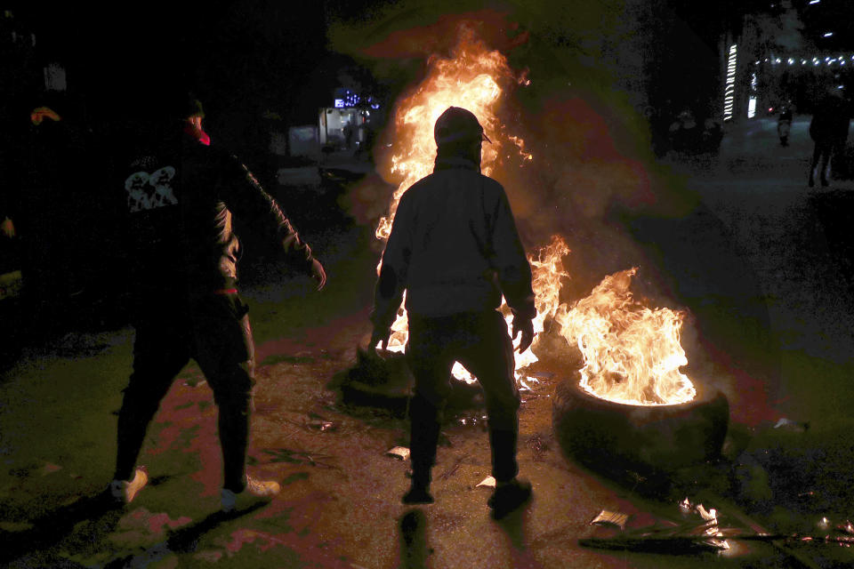
<instances>
[{"instance_id":1,"label":"left arm of the capped man facing the fire","mask_svg":"<svg viewBox=\"0 0 854 569\"><path fill-rule=\"evenodd\" d=\"M391 335L391 325L394 324L400 302L403 301L412 252L413 211L410 201L406 193L400 198L389 241L383 251L380 276L374 289L374 309L370 316L374 333L369 349L374 349L376 344L381 342L385 348Z\"/></svg>"}]
</instances>

